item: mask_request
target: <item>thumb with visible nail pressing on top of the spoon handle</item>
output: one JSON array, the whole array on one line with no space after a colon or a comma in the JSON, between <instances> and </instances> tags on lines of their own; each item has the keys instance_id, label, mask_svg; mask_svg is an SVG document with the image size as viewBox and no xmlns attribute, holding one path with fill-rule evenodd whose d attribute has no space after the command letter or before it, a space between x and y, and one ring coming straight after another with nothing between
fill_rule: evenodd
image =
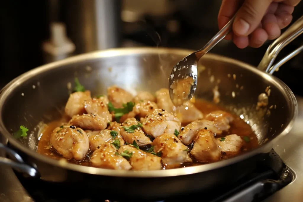
<instances>
[{"instance_id":1,"label":"thumb with visible nail pressing on top of the spoon handle","mask_svg":"<svg viewBox=\"0 0 303 202\"><path fill-rule=\"evenodd\" d=\"M245 0L237 12L233 32L238 36L248 36L260 24L272 0Z\"/></svg>"}]
</instances>

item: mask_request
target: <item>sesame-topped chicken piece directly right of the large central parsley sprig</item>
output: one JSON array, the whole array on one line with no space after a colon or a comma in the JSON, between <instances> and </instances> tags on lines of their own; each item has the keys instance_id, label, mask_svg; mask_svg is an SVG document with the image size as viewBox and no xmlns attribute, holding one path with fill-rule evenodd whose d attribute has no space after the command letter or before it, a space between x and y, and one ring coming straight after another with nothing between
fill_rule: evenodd
<instances>
[{"instance_id":1,"label":"sesame-topped chicken piece directly right of the large central parsley sprig","mask_svg":"<svg viewBox=\"0 0 303 202\"><path fill-rule=\"evenodd\" d=\"M128 114L124 114L120 118L120 121L123 122L126 118L133 118L137 115L139 117L145 117L148 114L152 113L157 108L158 106L155 102L139 101L137 104L135 104L131 112L129 112Z\"/></svg>"}]
</instances>

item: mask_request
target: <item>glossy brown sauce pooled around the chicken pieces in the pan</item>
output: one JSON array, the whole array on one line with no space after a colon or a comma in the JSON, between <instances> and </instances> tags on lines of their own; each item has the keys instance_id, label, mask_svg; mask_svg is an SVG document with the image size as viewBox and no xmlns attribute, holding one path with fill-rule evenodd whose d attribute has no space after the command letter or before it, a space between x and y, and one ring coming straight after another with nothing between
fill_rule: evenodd
<instances>
[{"instance_id":1,"label":"glossy brown sauce pooled around the chicken pieces in the pan","mask_svg":"<svg viewBox=\"0 0 303 202\"><path fill-rule=\"evenodd\" d=\"M215 111L215 110L227 111L225 108L221 108L218 105L215 105L213 103L210 103L210 102L207 102L207 101L204 101L201 99L196 99L195 106L201 112L203 112L204 115L206 115L212 111ZM229 113L231 113L231 112L229 112ZM233 114L233 113L231 113L231 114ZM243 146L242 151L241 151L242 153L251 151L252 149L258 147L259 144L258 144L257 136L252 131L251 127L247 123L245 123L240 117L236 116L235 114L233 114L233 116L235 119L232 122L232 124L230 125L231 126L230 129L227 132L224 132L220 136L216 136L216 137L225 137L226 135L229 135L229 134L237 134L238 136L241 136L242 138L249 137L250 141L246 142L246 144ZM68 161L68 162L74 163L74 164L90 166L89 157L92 154L91 150L88 152L87 156L82 161L66 160L64 157L62 157L60 154L58 154L51 147L51 145L49 143L50 135L51 135L52 131L56 127L62 125L62 123L68 122L68 121L69 121L68 117L64 116L59 120L55 120L55 121L48 123L47 126L44 128L44 130L42 132L42 136L40 137L40 140L38 142L37 152L39 154L50 157L52 159L64 160L64 161ZM184 125L182 125L182 126L184 126ZM227 159L227 158L229 158L229 157L222 156L222 159ZM201 163L197 163L194 161L191 164L180 165L180 167L188 167L188 166L194 166L194 165L200 165L200 164Z\"/></svg>"}]
</instances>

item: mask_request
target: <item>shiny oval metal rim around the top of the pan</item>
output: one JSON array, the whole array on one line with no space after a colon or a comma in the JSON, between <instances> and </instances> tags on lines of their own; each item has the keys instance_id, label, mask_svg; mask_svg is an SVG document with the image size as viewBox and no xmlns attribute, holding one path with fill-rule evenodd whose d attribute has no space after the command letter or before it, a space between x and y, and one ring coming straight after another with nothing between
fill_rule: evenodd
<instances>
[{"instance_id":1,"label":"shiny oval metal rim around the top of the pan","mask_svg":"<svg viewBox=\"0 0 303 202\"><path fill-rule=\"evenodd\" d=\"M46 71L49 71L51 69L60 68L60 66L85 61L88 59L97 59L97 58L104 58L104 57L114 57L114 56L121 56L121 55L129 55L131 54L151 54L151 53L174 53L179 55L189 55L193 50L189 49L180 49L180 48L153 48L153 47L132 47L132 48L111 48L107 50L102 51L93 51L90 53L85 53L81 55L72 56L70 58L66 58L60 61L52 62L46 65L39 66L37 68L34 68L30 71L25 72L24 74L18 76L17 78L13 79L11 82L9 82L3 89L2 93L0 94L0 114L2 117L3 112L3 104L5 103L7 95L10 94L10 92L13 91L14 88L18 87L19 85L22 85L27 79L37 75L44 73ZM180 175L187 175L187 174L195 174L200 172L205 172L209 170L218 169L220 167L225 167L231 164L235 164L239 161L243 161L245 159L248 159L252 156L255 156L256 154L262 153L264 151L264 147L269 147L274 141L277 141L280 137L286 135L289 133L291 128L293 127L295 118L298 114L298 104L297 100L295 98L295 95L293 92L289 89L289 87L280 79L275 78L274 76L271 76L257 68L255 68L252 65L249 65L247 63L228 58L225 56L217 55L217 54L211 54L208 53L204 56L204 58L212 58L218 61L225 61L230 64L241 66L241 68L246 68L250 71L252 71L255 74L258 74L259 76L265 78L266 80L269 80L271 83L274 83L277 85L280 89L282 89L283 93L285 95L288 95L289 102L292 103L291 107L291 117L290 122L288 123L287 127L273 140L267 141L265 144L261 145L260 147L239 155L237 157L233 157L231 159L218 161L215 163L210 164L204 164L204 165L198 165L198 166L192 166L192 167L185 167L185 168L175 168L175 169L169 169L169 170L158 170L158 171L120 171L120 170L110 170L110 169L103 169L103 168L96 168L96 167L87 167L77 164L71 164L65 161L58 161L55 159L51 159L48 157L43 156L42 154L38 154L37 152L30 150L25 145L17 141L11 133L5 129L4 123L2 121L2 118L0 117L0 133L4 135L10 144L12 144L14 147L18 148L25 154L31 156L32 158L35 158L38 161L42 161L46 164L51 164L52 166L61 167L64 169L87 173L87 174L97 174L97 175L104 175L104 176L112 176L112 177L138 177L138 178L150 178L150 177L172 177L172 176L180 176Z\"/></svg>"}]
</instances>

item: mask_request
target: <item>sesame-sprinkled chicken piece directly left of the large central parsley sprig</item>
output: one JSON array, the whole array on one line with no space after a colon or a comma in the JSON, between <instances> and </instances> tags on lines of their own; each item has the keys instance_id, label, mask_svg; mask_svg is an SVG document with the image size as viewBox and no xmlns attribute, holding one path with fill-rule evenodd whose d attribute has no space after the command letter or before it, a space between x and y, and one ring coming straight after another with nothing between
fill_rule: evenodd
<instances>
[{"instance_id":1,"label":"sesame-sprinkled chicken piece directly left of the large central parsley sprig","mask_svg":"<svg viewBox=\"0 0 303 202\"><path fill-rule=\"evenodd\" d=\"M112 122L112 114L109 113L108 107L103 102L102 98L92 98L84 102L84 108L88 114L97 114L99 117L104 118L106 123Z\"/></svg>"}]
</instances>

